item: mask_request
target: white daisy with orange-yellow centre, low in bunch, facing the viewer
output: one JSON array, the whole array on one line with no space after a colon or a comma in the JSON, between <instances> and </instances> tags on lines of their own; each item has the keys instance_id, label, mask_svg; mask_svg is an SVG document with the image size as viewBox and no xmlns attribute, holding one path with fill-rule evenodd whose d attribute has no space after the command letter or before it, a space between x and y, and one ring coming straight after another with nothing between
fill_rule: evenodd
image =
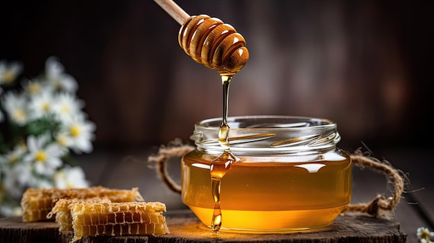
<instances>
[{"instance_id":1,"label":"white daisy with orange-yellow centre, low in bunch, facing the viewer","mask_svg":"<svg viewBox=\"0 0 434 243\"><path fill-rule=\"evenodd\" d=\"M62 165L60 156L64 154L65 150L57 143L46 144L48 141L47 136L28 136L28 154L24 160L31 161L38 174L51 176Z\"/></svg>"}]
</instances>

